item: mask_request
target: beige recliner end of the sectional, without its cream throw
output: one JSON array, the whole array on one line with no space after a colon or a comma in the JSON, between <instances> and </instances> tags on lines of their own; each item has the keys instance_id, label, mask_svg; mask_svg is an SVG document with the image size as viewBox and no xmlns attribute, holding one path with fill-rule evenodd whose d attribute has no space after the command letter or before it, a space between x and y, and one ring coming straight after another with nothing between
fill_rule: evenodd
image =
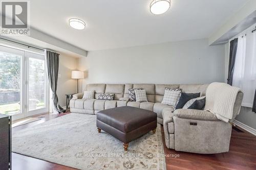
<instances>
[{"instance_id":1,"label":"beige recliner end of the sectional, without its cream throw","mask_svg":"<svg viewBox=\"0 0 256 170\"><path fill-rule=\"evenodd\" d=\"M204 110L163 109L163 128L166 147L176 151L217 154L229 151L231 122L239 114L243 92L239 92L228 123Z\"/></svg>"}]
</instances>

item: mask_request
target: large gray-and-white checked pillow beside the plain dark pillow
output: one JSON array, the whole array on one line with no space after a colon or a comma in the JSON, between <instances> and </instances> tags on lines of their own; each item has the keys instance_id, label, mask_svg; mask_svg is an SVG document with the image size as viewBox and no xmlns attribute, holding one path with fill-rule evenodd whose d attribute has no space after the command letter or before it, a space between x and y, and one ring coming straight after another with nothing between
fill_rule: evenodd
<instances>
[{"instance_id":1,"label":"large gray-and-white checked pillow beside the plain dark pillow","mask_svg":"<svg viewBox=\"0 0 256 170\"><path fill-rule=\"evenodd\" d=\"M181 89L173 89L165 87L162 104L176 107L181 94Z\"/></svg>"}]
</instances>

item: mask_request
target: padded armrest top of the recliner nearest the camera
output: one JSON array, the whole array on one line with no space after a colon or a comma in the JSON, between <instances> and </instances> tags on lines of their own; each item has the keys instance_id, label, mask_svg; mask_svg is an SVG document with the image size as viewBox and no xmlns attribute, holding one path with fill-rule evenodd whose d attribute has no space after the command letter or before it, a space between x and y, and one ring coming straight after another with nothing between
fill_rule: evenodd
<instances>
[{"instance_id":1,"label":"padded armrest top of the recliner nearest the camera","mask_svg":"<svg viewBox=\"0 0 256 170\"><path fill-rule=\"evenodd\" d=\"M174 111L176 117L185 119L195 119L195 120L209 120L218 121L216 115L205 110L195 110L195 109L177 109Z\"/></svg>"}]
</instances>

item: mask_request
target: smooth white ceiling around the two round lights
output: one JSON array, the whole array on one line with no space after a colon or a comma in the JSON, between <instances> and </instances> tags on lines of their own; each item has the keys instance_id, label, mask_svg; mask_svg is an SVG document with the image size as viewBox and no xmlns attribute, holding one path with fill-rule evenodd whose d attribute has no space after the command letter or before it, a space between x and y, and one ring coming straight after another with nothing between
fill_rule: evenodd
<instances>
[{"instance_id":1,"label":"smooth white ceiling around the two round lights","mask_svg":"<svg viewBox=\"0 0 256 170\"><path fill-rule=\"evenodd\" d=\"M152 0L33 0L31 27L87 51L208 38L248 0L171 0L154 15ZM74 30L69 18L86 22Z\"/></svg>"}]
</instances>

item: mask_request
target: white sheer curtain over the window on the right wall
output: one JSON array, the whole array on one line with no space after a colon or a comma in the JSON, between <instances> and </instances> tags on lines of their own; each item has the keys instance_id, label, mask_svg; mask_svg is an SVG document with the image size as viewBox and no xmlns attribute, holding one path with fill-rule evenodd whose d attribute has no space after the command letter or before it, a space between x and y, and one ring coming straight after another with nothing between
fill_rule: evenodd
<instances>
[{"instance_id":1,"label":"white sheer curtain over the window on the right wall","mask_svg":"<svg viewBox=\"0 0 256 170\"><path fill-rule=\"evenodd\" d=\"M247 31L238 37L236 61L234 63L233 86L244 92L242 106L252 107L256 88L256 33Z\"/></svg>"}]
</instances>

